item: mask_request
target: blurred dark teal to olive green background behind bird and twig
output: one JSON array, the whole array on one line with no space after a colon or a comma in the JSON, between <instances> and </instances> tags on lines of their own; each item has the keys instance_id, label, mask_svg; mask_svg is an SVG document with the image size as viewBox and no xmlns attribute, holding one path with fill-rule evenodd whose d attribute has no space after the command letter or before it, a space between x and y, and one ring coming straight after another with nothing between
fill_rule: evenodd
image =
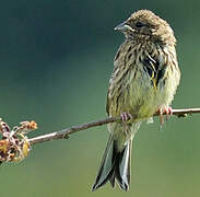
<instances>
[{"instance_id":1,"label":"blurred dark teal to olive green background behind bird and twig","mask_svg":"<svg viewBox=\"0 0 200 197\"><path fill-rule=\"evenodd\" d=\"M123 36L115 25L150 9L173 26L181 84L173 106L200 106L200 1L0 1L0 117L38 123L37 136L105 117L113 59ZM140 128L128 193L91 193L107 141L106 126L36 144L21 163L0 166L2 197L200 196L199 115Z\"/></svg>"}]
</instances>

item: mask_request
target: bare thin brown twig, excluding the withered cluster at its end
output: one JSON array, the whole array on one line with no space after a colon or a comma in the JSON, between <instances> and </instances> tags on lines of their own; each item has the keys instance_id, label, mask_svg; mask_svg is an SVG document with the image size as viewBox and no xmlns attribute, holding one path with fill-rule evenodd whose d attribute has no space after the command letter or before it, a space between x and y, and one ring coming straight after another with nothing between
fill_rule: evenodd
<instances>
[{"instance_id":1,"label":"bare thin brown twig, excluding the withered cluster at its end","mask_svg":"<svg viewBox=\"0 0 200 197\"><path fill-rule=\"evenodd\" d=\"M186 117L188 114L191 115L191 114L197 114L197 113L200 113L200 108L173 109L173 115L175 115L177 117ZM158 113L154 114L154 116L158 116L158 115L160 115ZM60 131L55 131L51 134L37 136L35 138L30 138L27 141L32 146L32 144L36 144L36 143L40 143L40 142L45 142L45 141L55 140L55 139L68 139L69 136L73 132L77 132L80 130L85 130L85 129L89 129L91 127L106 125L106 124L114 123L114 121L121 121L121 117L108 117L105 119L101 119L101 120L96 120L96 121L92 121L92 123L86 123L83 125L72 126L70 128L66 128L66 129L60 130Z\"/></svg>"}]
</instances>

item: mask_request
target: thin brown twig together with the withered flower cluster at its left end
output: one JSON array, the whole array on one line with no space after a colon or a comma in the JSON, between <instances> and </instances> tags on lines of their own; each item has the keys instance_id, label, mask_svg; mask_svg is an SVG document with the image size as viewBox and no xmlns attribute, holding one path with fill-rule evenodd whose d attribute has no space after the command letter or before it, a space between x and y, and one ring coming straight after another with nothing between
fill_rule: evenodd
<instances>
[{"instance_id":1,"label":"thin brown twig together with the withered flower cluster at its left end","mask_svg":"<svg viewBox=\"0 0 200 197\"><path fill-rule=\"evenodd\" d=\"M200 108L172 109L172 113L173 115L178 117L186 117L188 114L191 115L195 113L200 113ZM166 113L162 113L162 114L164 115ZM161 115L161 112L155 113L153 116L160 116L161 124L164 123L164 117ZM149 117L143 117L142 119L144 118L149 118ZM133 116L128 120L132 120L132 123L134 123L134 119L139 120L137 116ZM0 164L4 162L22 161L28 155L31 147L33 144L50 141L55 139L68 139L69 136L73 132L85 130L91 127L106 125L114 121L120 123L121 120L122 119L120 116L108 117L102 120L72 126L70 128L67 128L60 131L37 136L35 138L27 138L27 135L30 131L37 129L37 124L34 120L22 121L20 123L19 126L14 126L13 128L10 128L9 125L0 118Z\"/></svg>"}]
</instances>

